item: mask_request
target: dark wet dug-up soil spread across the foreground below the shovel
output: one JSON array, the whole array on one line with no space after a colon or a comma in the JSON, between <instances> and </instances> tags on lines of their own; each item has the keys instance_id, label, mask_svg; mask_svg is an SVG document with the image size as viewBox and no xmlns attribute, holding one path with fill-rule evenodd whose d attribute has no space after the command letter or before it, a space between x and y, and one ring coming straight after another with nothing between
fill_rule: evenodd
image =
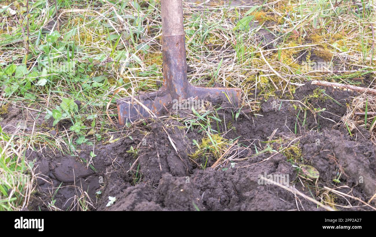
<instances>
[{"instance_id":1,"label":"dark wet dug-up soil spread across the foreground below the shovel","mask_svg":"<svg viewBox=\"0 0 376 237\"><path fill-rule=\"evenodd\" d=\"M318 94L319 89L325 93ZM373 210L369 205L374 207L375 201L365 205L359 199L368 202L376 192L375 146L367 131L358 129L350 136L340 123L356 94L306 83L296 89L293 101L281 96L285 100L265 99L260 111L243 110L237 119L223 102L210 99L212 106L223 107L218 132L238 141L216 168L211 166L218 157L208 155L204 164L191 156L197 149L193 140L205 135L176 119L147 120L144 130L119 128L122 132L114 135L119 139L97 142L92 158L89 145L81 145L74 156L29 149L26 157L35 162L39 178L28 208L48 210L53 202L61 210L79 210L77 200L85 198L90 210L324 210L294 192L264 184L261 175L282 177L282 184L336 210ZM1 115L5 131L57 136L51 124L36 126L45 123L37 112L21 111L11 107ZM285 152L291 146L296 148L293 157ZM319 178L303 177L299 165L313 166ZM109 196L116 201L107 206Z\"/></svg>"}]
</instances>

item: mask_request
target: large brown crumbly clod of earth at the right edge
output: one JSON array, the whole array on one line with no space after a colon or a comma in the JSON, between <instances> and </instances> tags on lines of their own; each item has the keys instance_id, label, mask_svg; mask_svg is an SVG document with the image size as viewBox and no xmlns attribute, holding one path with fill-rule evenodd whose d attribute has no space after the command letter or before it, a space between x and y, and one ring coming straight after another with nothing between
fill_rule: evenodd
<instances>
[{"instance_id":1,"label":"large brown crumbly clod of earth at the right edge","mask_svg":"<svg viewBox=\"0 0 376 237\"><path fill-rule=\"evenodd\" d=\"M376 192L375 148L371 141L355 142L339 131L309 132L300 139L304 157L320 172L320 181L328 186L340 181L355 186L368 199ZM360 186L360 187L359 187Z\"/></svg>"}]
</instances>

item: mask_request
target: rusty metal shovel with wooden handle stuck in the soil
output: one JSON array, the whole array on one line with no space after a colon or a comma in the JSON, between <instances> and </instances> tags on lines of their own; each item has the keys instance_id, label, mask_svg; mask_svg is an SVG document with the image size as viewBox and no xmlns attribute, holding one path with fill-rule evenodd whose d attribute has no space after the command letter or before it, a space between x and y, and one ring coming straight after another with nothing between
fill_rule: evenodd
<instances>
[{"instance_id":1,"label":"rusty metal shovel with wooden handle stuck in the soil","mask_svg":"<svg viewBox=\"0 0 376 237\"><path fill-rule=\"evenodd\" d=\"M147 118L151 114L160 116L167 104L190 98L222 98L238 108L240 88L200 87L188 82L182 0L161 0L161 11L163 85L156 92L117 99L119 124Z\"/></svg>"}]
</instances>

